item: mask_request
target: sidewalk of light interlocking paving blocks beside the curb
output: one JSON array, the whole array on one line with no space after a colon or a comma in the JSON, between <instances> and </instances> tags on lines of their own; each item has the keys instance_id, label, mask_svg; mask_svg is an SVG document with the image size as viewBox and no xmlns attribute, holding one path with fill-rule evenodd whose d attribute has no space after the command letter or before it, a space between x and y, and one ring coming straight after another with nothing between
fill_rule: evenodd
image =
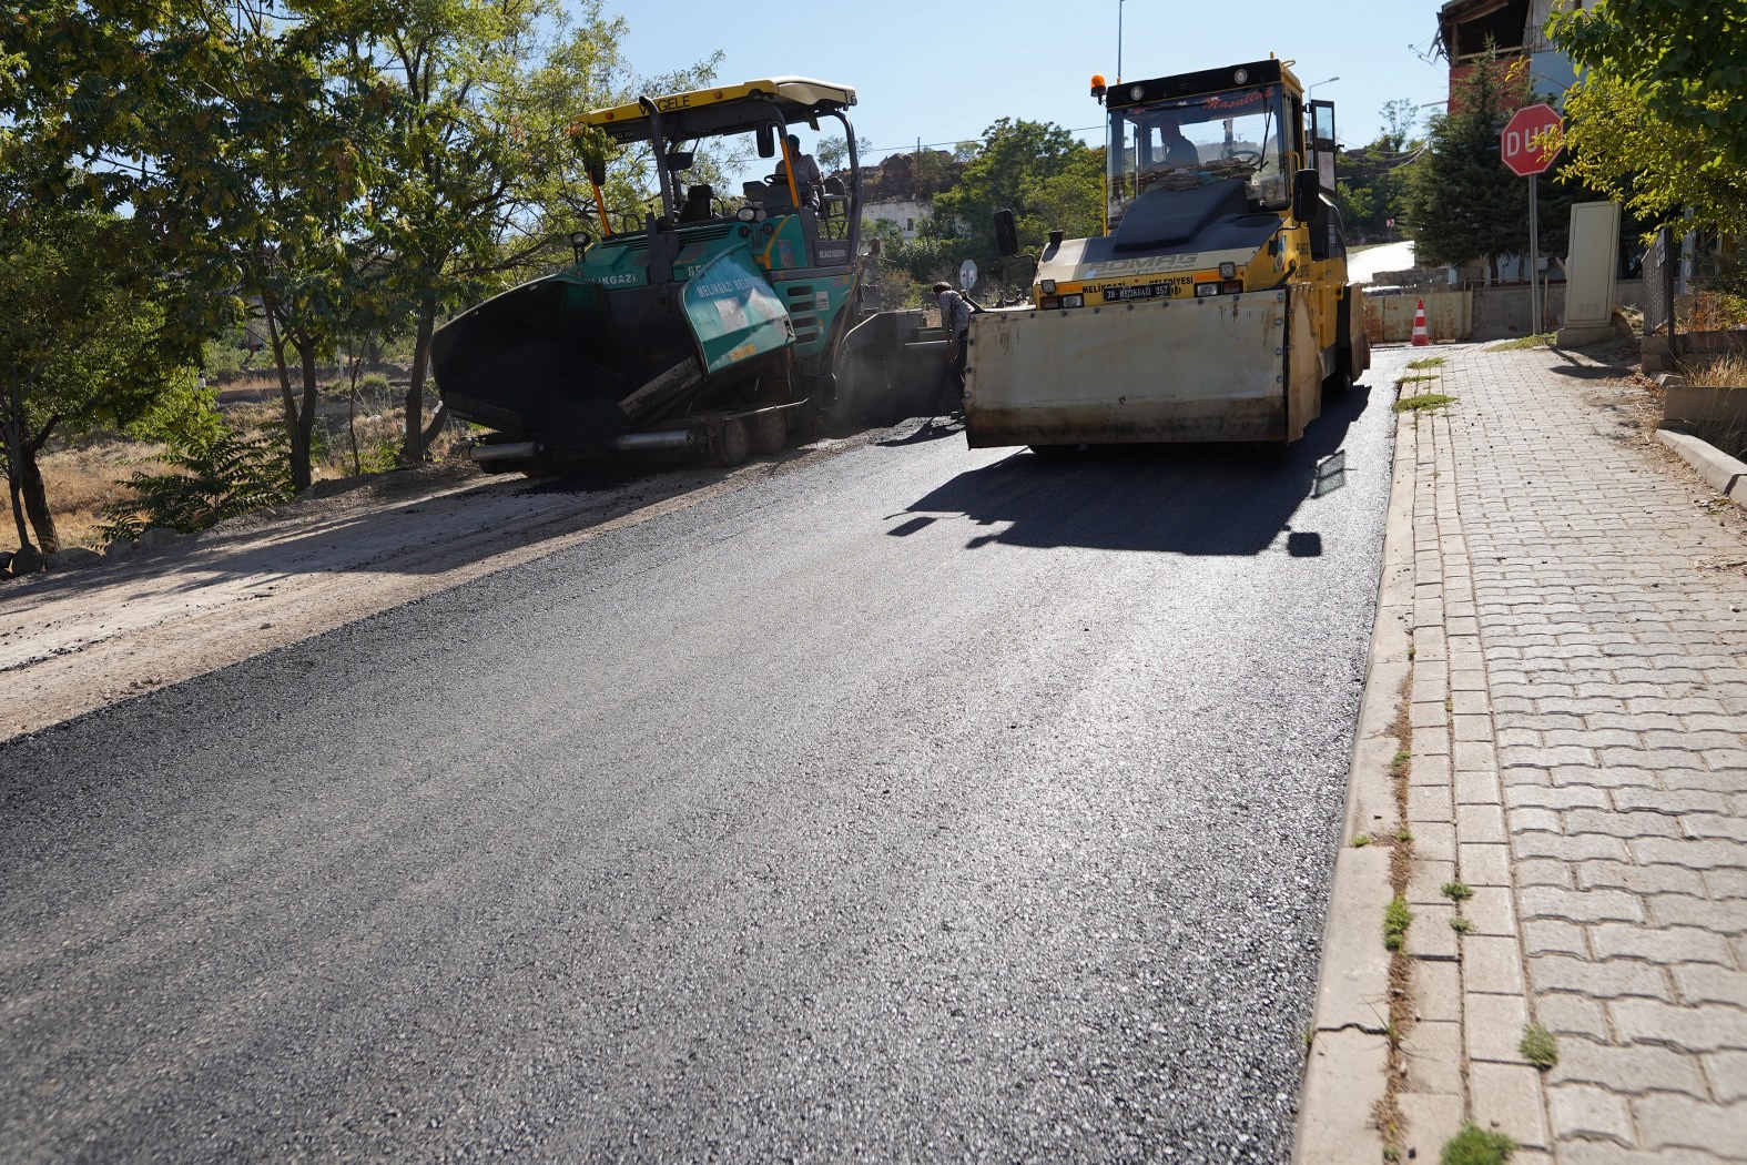
<instances>
[{"instance_id":1,"label":"sidewalk of light interlocking paving blocks beside the curb","mask_svg":"<svg viewBox=\"0 0 1747 1165\"><path fill-rule=\"evenodd\" d=\"M1747 1162L1747 575L1581 353L1440 348L1415 458L1419 1156ZM1452 901L1445 886L1473 889ZM1450 919L1460 915L1466 933ZM1527 1025L1553 1036L1537 1071ZM1429 1144L1427 1144L1429 1142Z\"/></svg>"}]
</instances>

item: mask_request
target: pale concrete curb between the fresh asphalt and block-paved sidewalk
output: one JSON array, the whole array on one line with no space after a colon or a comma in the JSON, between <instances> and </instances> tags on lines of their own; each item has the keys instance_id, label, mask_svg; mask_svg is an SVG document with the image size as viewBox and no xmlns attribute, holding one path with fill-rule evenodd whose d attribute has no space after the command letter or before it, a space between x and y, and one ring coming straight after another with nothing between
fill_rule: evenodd
<instances>
[{"instance_id":1,"label":"pale concrete curb between the fresh asphalt and block-paved sidewalk","mask_svg":"<svg viewBox=\"0 0 1747 1165\"><path fill-rule=\"evenodd\" d=\"M1322 927L1322 968L1293 1160L1338 1165L1382 1160L1384 1141L1373 1109L1389 1078L1389 952L1384 948L1384 908L1391 900L1389 847L1354 847L1361 833L1396 824L1389 765L1401 748L1394 735L1401 686L1412 671L1413 632L1413 477L1412 417L1396 421L1389 522L1377 618L1366 660L1364 695L1347 777L1347 810L1335 856L1328 922Z\"/></svg>"}]
</instances>

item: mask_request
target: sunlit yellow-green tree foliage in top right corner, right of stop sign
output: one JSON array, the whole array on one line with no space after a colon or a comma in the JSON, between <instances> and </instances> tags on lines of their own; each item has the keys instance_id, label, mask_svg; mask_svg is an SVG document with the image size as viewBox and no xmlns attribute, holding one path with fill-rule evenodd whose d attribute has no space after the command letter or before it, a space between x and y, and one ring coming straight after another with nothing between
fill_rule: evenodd
<instances>
[{"instance_id":1,"label":"sunlit yellow-green tree foliage in top right corner, right of stop sign","mask_svg":"<svg viewBox=\"0 0 1747 1165\"><path fill-rule=\"evenodd\" d=\"M1586 72L1567 91L1571 173L1651 229L1737 231L1747 194L1747 24L1740 0L1597 0L1548 35Z\"/></svg>"}]
</instances>

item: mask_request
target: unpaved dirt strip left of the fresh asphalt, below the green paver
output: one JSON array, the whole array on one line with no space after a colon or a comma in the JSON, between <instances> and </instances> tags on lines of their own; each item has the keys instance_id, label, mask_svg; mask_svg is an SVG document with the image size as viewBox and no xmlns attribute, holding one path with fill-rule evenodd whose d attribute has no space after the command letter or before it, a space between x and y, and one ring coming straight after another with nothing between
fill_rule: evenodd
<instances>
[{"instance_id":1,"label":"unpaved dirt strip left of the fresh asphalt, below the green paver","mask_svg":"<svg viewBox=\"0 0 1747 1165\"><path fill-rule=\"evenodd\" d=\"M868 440L735 470L363 479L65 575L0 583L0 741L241 662Z\"/></svg>"}]
</instances>

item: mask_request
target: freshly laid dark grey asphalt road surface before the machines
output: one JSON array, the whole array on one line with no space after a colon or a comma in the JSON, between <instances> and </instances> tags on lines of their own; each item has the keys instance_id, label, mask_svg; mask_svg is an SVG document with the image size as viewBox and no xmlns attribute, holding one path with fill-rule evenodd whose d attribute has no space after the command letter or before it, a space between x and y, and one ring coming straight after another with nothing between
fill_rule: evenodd
<instances>
[{"instance_id":1,"label":"freshly laid dark grey asphalt road surface before the machines","mask_svg":"<svg viewBox=\"0 0 1747 1165\"><path fill-rule=\"evenodd\" d=\"M894 435L0 744L0 1160L1284 1160L1403 360L1286 456Z\"/></svg>"}]
</instances>

